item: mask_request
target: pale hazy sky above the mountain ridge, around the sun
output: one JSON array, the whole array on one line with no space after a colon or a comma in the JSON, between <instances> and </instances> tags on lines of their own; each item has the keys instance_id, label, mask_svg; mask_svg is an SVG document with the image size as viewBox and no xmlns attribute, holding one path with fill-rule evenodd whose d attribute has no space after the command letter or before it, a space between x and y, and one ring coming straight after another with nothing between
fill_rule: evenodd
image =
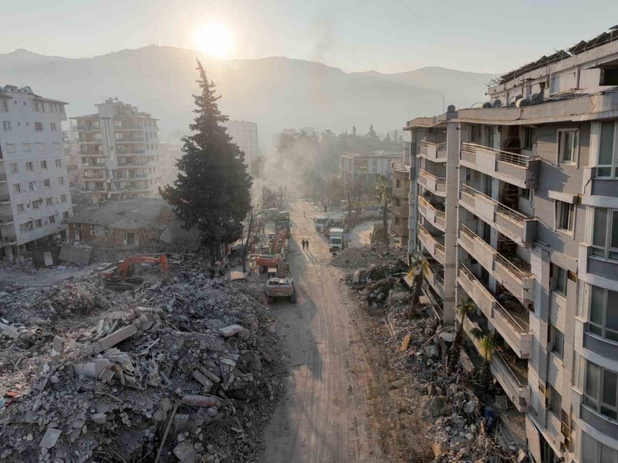
<instances>
[{"instance_id":1,"label":"pale hazy sky above the mountain ridge, around the sun","mask_svg":"<svg viewBox=\"0 0 618 463\"><path fill-rule=\"evenodd\" d=\"M618 23L618 1L23 0L3 8L0 53L94 56L159 43L198 48L208 23L230 58L288 56L344 71L508 71Z\"/></svg>"}]
</instances>

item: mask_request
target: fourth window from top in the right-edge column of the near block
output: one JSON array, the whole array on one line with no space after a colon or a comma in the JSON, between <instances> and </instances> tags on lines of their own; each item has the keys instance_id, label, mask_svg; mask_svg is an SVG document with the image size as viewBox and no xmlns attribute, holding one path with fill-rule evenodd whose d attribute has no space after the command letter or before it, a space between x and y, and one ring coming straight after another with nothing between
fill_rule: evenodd
<instances>
[{"instance_id":1,"label":"fourth window from top in the right-edge column of the near block","mask_svg":"<svg viewBox=\"0 0 618 463\"><path fill-rule=\"evenodd\" d=\"M612 420L617 419L618 374L586 361L585 386L584 403Z\"/></svg>"}]
</instances>

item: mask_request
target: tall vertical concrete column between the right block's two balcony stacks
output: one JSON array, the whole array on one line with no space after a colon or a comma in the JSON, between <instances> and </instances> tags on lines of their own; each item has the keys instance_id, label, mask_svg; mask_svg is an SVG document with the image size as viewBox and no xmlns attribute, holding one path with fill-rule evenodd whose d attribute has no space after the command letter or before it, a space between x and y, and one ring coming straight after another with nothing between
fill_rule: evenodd
<instances>
[{"instance_id":1,"label":"tall vertical concrete column between the right block's two balcony stacks","mask_svg":"<svg viewBox=\"0 0 618 463\"><path fill-rule=\"evenodd\" d=\"M446 128L446 204L444 233L444 322L455 322L457 306L457 201L459 200L459 124Z\"/></svg>"}]
</instances>

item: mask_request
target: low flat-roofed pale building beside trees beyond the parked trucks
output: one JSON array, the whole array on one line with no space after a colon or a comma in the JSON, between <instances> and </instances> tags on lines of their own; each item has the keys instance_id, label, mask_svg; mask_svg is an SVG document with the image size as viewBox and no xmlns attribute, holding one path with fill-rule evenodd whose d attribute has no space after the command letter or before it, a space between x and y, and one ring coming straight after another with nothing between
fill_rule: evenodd
<instances>
[{"instance_id":1,"label":"low flat-roofed pale building beside trees beyond the parked trucks","mask_svg":"<svg viewBox=\"0 0 618 463\"><path fill-rule=\"evenodd\" d=\"M358 188L364 194L370 194L376 189L380 176L390 181L391 163L400 160L398 153L346 153L339 155L339 174L346 188Z\"/></svg>"}]
</instances>

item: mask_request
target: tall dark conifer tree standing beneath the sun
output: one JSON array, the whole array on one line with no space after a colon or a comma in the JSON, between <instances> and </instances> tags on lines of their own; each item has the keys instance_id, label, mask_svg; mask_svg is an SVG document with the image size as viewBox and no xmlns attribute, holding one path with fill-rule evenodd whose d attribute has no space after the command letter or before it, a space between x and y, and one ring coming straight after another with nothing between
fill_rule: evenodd
<instances>
[{"instance_id":1,"label":"tall dark conifer tree standing beneath the sun","mask_svg":"<svg viewBox=\"0 0 618 463\"><path fill-rule=\"evenodd\" d=\"M220 258L222 243L240 238L242 220L251 209L251 175L247 173L244 153L231 141L228 120L219 111L215 83L209 81L202 63L197 68L201 94L193 95L196 117L183 137L183 156L177 162L178 179L159 189L185 227L198 227L203 244L209 248L210 261Z\"/></svg>"}]
</instances>

